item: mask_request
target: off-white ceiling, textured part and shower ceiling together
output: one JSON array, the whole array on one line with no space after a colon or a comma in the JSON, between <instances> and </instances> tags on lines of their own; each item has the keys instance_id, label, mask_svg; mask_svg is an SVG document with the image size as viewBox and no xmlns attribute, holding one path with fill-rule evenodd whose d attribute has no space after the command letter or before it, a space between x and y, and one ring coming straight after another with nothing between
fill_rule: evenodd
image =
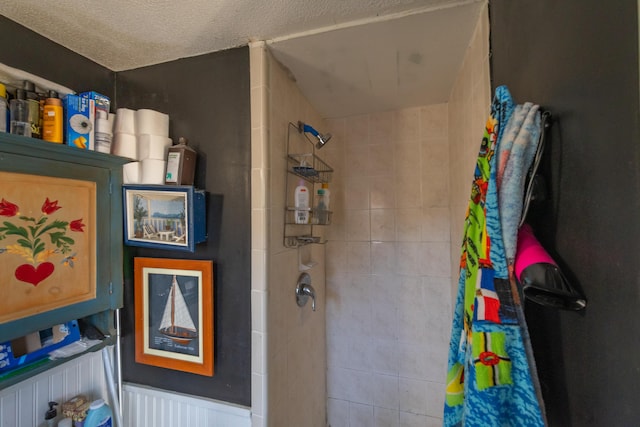
<instances>
[{"instance_id":1,"label":"off-white ceiling, textured part and shower ceiling together","mask_svg":"<svg viewBox=\"0 0 640 427\"><path fill-rule=\"evenodd\" d=\"M0 13L113 71L265 40L336 117L445 102L485 3L1 0Z\"/></svg>"}]
</instances>

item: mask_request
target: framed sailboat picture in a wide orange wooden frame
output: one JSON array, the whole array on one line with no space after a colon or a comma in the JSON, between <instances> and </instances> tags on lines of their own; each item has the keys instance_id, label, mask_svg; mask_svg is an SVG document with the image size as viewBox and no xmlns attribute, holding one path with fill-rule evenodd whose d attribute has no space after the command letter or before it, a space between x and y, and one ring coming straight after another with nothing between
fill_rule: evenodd
<instances>
[{"instance_id":1,"label":"framed sailboat picture in a wide orange wooden frame","mask_svg":"<svg viewBox=\"0 0 640 427\"><path fill-rule=\"evenodd\" d=\"M134 258L136 362L213 376L213 261Z\"/></svg>"}]
</instances>

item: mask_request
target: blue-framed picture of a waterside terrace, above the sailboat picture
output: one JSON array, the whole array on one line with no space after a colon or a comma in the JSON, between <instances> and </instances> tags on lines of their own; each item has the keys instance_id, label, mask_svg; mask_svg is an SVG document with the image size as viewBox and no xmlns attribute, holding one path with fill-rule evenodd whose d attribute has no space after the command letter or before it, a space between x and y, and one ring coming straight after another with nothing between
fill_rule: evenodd
<instances>
[{"instance_id":1,"label":"blue-framed picture of a waterside terrace, above the sailboat picture","mask_svg":"<svg viewBox=\"0 0 640 427\"><path fill-rule=\"evenodd\" d=\"M124 185L129 246L194 252L206 240L205 194L189 185Z\"/></svg>"}]
</instances>

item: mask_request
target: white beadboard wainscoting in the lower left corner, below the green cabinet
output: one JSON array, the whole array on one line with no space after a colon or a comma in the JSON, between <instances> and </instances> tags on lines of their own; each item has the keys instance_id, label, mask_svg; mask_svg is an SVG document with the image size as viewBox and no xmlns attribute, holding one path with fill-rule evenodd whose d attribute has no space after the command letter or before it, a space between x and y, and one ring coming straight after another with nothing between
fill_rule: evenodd
<instances>
[{"instance_id":1,"label":"white beadboard wainscoting in the lower left corner, below the green cabinet","mask_svg":"<svg viewBox=\"0 0 640 427\"><path fill-rule=\"evenodd\" d=\"M0 426L39 426L48 402L62 404L78 394L108 401L101 352L87 353L0 390Z\"/></svg>"}]
</instances>

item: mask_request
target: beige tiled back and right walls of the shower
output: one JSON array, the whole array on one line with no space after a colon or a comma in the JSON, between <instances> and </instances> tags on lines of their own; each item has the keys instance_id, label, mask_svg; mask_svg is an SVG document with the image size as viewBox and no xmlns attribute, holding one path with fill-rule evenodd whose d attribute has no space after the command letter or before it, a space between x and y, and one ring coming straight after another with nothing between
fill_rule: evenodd
<instances>
[{"instance_id":1,"label":"beige tiled back and right walls of the shower","mask_svg":"<svg viewBox=\"0 0 640 427\"><path fill-rule=\"evenodd\" d=\"M326 249L331 427L442 425L457 242L490 101L487 41L485 8L447 104L327 121L335 141L323 155L338 170Z\"/></svg>"}]
</instances>

